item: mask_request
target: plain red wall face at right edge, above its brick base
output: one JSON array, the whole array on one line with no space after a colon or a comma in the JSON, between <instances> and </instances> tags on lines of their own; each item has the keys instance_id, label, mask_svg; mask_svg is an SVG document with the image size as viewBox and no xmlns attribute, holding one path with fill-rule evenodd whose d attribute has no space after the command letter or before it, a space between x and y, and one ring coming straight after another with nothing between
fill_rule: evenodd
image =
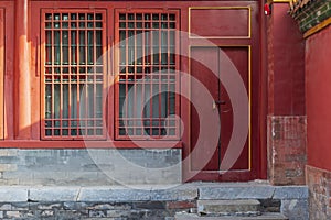
<instances>
[{"instance_id":1,"label":"plain red wall face at right edge, above its brick base","mask_svg":"<svg viewBox=\"0 0 331 220\"><path fill-rule=\"evenodd\" d=\"M306 43L308 164L331 170L331 26Z\"/></svg>"}]
</instances>

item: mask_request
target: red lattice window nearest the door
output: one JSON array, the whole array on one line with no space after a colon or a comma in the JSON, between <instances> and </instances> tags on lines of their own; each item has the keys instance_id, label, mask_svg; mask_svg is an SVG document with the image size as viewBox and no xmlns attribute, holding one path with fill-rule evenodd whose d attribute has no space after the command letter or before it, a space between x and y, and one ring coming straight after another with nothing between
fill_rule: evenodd
<instances>
[{"instance_id":1,"label":"red lattice window nearest the door","mask_svg":"<svg viewBox=\"0 0 331 220\"><path fill-rule=\"evenodd\" d=\"M117 11L116 138L175 139L177 11Z\"/></svg>"}]
</instances>

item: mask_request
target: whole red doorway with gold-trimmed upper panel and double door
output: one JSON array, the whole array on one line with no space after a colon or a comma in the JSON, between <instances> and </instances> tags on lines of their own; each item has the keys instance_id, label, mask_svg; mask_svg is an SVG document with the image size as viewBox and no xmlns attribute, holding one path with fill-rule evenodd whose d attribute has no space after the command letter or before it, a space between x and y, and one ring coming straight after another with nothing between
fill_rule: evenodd
<instances>
[{"instance_id":1,"label":"whole red doorway with gold-trimmed upper panel and double door","mask_svg":"<svg viewBox=\"0 0 331 220\"><path fill-rule=\"evenodd\" d=\"M197 7L190 16L184 180L258 178L258 6Z\"/></svg>"}]
</instances>

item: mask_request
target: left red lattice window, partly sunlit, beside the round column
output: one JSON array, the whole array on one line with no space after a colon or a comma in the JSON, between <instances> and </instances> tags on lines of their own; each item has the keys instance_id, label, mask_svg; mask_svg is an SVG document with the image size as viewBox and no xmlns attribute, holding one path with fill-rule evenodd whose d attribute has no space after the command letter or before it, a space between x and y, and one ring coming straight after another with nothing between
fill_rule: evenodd
<instances>
[{"instance_id":1,"label":"left red lattice window, partly sunlit, beside the round column","mask_svg":"<svg viewBox=\"0 0 331 220\"><path fill-rule=\"evenodd\" d=\"M102 10L43 10L43 139L105 136L105 16Z\"/></svg>"}]
</instances>

